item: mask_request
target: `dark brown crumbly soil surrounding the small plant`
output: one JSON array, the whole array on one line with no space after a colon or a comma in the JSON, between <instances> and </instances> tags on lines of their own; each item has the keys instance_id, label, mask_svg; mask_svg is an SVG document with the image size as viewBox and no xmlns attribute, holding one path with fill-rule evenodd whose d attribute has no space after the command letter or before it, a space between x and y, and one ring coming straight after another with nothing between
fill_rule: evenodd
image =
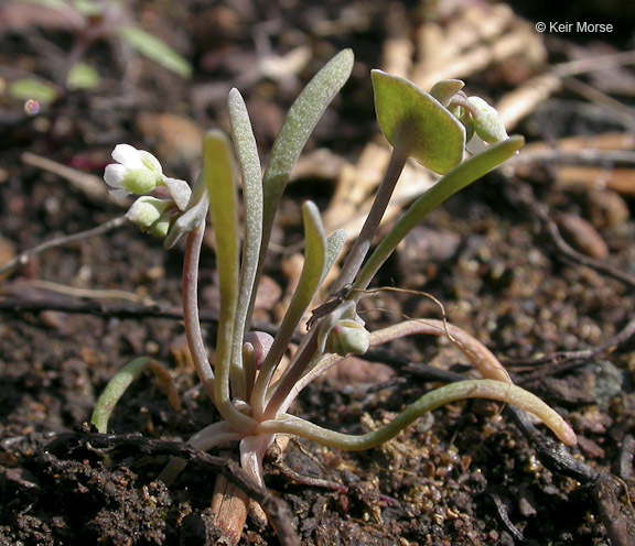
<instances>
[{"instance_id":1,"label":"dark brown crumbly soil surrounding the small plant","mask_svg":"<svg viewBox=\"0 0 635 546\"><path fill-rule=\"evenodd\" d=\"M169 112L195 119L203 128L226 127L225 96L239 85L266 157L302 85L348 46L357 58L353 77L308 150L327 148L355 162L376 131L368 69L380 65L390 31L386 10L405 10L413 34L422 9L417 2L387 0L288 3L283 9L269 1L208 6L192 0L168 10L162 2L134 2L144 28L192 59L192 81L185 84L148 61L136 62L137 81L122 80L125 65L115 62L107 43L98 43L87 57L103 77L97 89L69 92L36 116L25 114L23 102L2 97L0 266L19 251L123 212L112 201L90 197L25 163L24 152L101 176L117 143L152 151L163 146L157 155L164 168L190 177L196 168L190 161L197 154L195 138L190 142L182 129L169 124L166 132L179 136L166 142L157 119L148 129L139 114ZM19 70L54 79L55 63L63 64L64 56L52 53L49 58L36 47L37 40L67 51L69 34L53 26L33 29L0 32L0 77ZM612 35L612 41L622 41L611 46L626 47L628 36L622 37ZM306 45L312 61L298 77L250 79L249 68L263 54L255 43L277 53ZM555 55L562 55L561 45L553 46ZM488 86L491 96L505 86L496 76L475 85ZM575 103L564 91L560 100ZM594 120L571 111L568 118L536 114L519 131L542 140L579 134L584 128L616 129L609 121L598 129ZM536 127L539 131L531 133ZM276 242L298 242L302 199L323 208L332 193L329 181L297 181L281 207ZM548 168L536 168L525 179L492 175L431 214L376 282L426 291L443 302L451 320L499 356L516 383L567 417L580 439L569 450L573 457L558 458L546 437L531 436L530 425L523 434L509 412L481 402L437 411L366 452L292 441L282 462L268 462L267 484L288 503L302 544L628 544L634 536L628 526L635 521L635 359L624 329L634 316L635 298L631 277L615 279L613 272L635 275L635 221L627 214L632 197L601 194L558 186ZM615 210L617 221L605 221ZM549 234L549 219L586 256L605 245L603 263L610 271L567 258ZM580 232L590 234L581 242ZM132 433L149 441L184 441L216 418L182 358L182 325L147 313L139 303L179 308L182 258L182 247L168 253L160 241L125 226L47 250L0 281L0 544L214 544L213 466L191 465L168 488L157 480L166 451L152 455L133 444L116 449ZM275 303L287 282L281 258L272 256L267 270L273 302L257 312L269 325L277 320ZM206 247L202 306L212 316L217 305L214 269L213 250ZM126 291L138 302L80 298L34 283L42 280L77 290ZM400 315L439 316L419 294L385 292L365 298L364 305L370 327ZM206 329L212 347L213 320ZM170 365L181 412L172 411L163 390L143 376L114 413L109 427L117 434L98 440L82 424L116 371L143 354ZM358 433L439 384L429 368L417 363L465 372L461 356L437 340L400 340L376 357L397 371L386 383L321 382L304 391L298 414ZM270 526L249 523L241 544L273 545L278 538Z\"/></svg>"}]
</instances>

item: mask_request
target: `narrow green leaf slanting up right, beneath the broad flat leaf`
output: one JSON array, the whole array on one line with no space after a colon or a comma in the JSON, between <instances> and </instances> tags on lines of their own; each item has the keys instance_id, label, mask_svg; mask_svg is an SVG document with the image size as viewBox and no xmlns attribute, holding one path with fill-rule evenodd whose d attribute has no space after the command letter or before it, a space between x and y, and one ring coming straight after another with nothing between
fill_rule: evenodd
<instances>
[{"instance_id":1,"label":"narrow green leaf slanting up right, beneath the broad flat leaf","mask_svg":"<svg viewBox=\"0 0 635 546\"><path fill-rule=\"evenodd\" d=\"M397 223L379 242L355 281L355 288L368 286L381 264L395 251L403 238L417 226L423 217L441 205L445 199L460 192L465 186L477 181L489 171L502 165L512 157L525 143L523 136L509 139L485 149L480 154L461 163L448 173L434 186L421 195L410 208L397 220Z\"/></svg>"}]
</instances>

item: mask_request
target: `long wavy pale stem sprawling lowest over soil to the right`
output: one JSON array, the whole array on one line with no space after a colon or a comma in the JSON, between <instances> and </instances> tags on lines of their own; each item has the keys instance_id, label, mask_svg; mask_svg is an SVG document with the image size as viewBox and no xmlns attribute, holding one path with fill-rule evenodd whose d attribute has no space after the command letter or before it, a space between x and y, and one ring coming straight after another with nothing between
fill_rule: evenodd
<instances>
[{"instance_id":1,"label":"long wavy pale stem sprawling lowest over soil to the right","mask_svg":"<svg viewBox=\"0 0 635 546\"><path fill-rule=\"evenodd\" d=\"M324 446L347 451L359 451L388 441L428 412L466 398L495 400L518 406L520 410L538 416L556 434L560 441L568 446L575 445L575 434L571 427L538 396L510 383L502 383L489 379L462 381L435 389L410 404L388 425L359 436L329 430L288 414L280 421L267 421L260 424L256 429L256 434L290 434Z\"/></svg>"}]
</instances>

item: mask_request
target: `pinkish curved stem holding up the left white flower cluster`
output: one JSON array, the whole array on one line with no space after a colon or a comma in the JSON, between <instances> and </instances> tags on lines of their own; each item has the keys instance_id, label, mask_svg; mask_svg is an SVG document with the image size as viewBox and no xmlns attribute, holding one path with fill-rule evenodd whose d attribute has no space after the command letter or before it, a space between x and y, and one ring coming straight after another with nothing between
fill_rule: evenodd
<instances>
[{"instance_id":1,"label":"pinkish curved stem holding up the left white flower cluster","mask_svg":"<svg viewBox=\"0 0 635 546\"><path fill-rule=\"evenodd\" d=\"M187 234L183 259L183 324L196 374L205 392L214 402L214 372L207 358L198 321L198 260L204 234L205 221Z\"/></svg>"}]
</instances>

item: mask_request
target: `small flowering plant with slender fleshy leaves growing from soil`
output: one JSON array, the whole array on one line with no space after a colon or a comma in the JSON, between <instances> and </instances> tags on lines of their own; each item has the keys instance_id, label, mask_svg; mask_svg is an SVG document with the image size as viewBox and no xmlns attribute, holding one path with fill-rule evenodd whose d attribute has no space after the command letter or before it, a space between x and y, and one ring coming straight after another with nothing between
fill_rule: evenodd
<instances>
[{"instance_id":1,"label":"small flowering plant with slender fleshy leaves growing from soil","mask_svg":"<svg viewBox=\"0 0 635 546\"><path fill-rule=\"evenodd\" d=\"M331 297L313 309L308 331L284 367L283 356L292 336L299 331L346 239L343 231L327 236L318 207L304 203L304 264L298 288L275 337L251 331L256 287L281 195L306 139L347 80L353 61L353 53L343 51L309 83L292 105L263 173L249 116L237 89L232 89L228 98L232 138L220 131L206 134L203 168L193 187L165 176L159 161L148 152L127 144L112 152L117 163L108 165L105 173L112 193L142 195L131 206L128 218L143 231L164 238L168 249L186 237L185 331L198 378L220 415L220 421L195 434L189 444L203 450L237 444L243 468L263 485L262 459L277 435L306 438L344 450L369 449L392 438L427 412L475 397L516 405L536 415L564 444L575 444L575 435L567 423L537 396L512 384L496 358L465 331L442 320L407 320L369 332L356 312L369 282L406 234L430 210L499 166L524 143L521 136L508 138L496 110L480 98L467 97L461 90L462 81L441 81L427 94L406 79L373 70L377 120L392 145L392 155L365 225L331 287ZM473 138L486 145L464 161L466 142ZM409 157L443 176L402 214L370 252ZM241 229L235 163L243 181ZM166 188L171 197L150 195L159 186ZM214 362L203 342L197 305L198 258L207 219L215 236L220 294ZM388 425L359 436L323 428L290 412L295 397L311 381L348 354L364 354L369 347L413 334L449 337L484 379L429 392ZM99 405L111 403L109 398ZM99 415L104 429L107 418L104 412ZM183 466L170 462L162 478L173 478Z\"/></svg>"}]
</instances>

